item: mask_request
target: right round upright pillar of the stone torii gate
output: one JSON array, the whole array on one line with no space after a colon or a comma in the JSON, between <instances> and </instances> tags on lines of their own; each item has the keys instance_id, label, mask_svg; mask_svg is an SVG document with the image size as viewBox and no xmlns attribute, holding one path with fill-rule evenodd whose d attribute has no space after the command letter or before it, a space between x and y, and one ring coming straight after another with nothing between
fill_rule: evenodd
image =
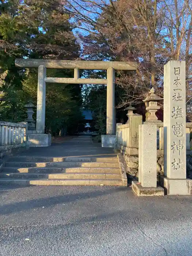
<instances>
[{"instance_id":1,"label":"right round upright pillar of the stone torii gate","mask_svg":"<svg viewBox=\"0 0 192 256\"><path fill-rule=\"evenodd\" d=\"M115 71L107 69L107 135L115 134Z\"/></svg>"}]
</instances>

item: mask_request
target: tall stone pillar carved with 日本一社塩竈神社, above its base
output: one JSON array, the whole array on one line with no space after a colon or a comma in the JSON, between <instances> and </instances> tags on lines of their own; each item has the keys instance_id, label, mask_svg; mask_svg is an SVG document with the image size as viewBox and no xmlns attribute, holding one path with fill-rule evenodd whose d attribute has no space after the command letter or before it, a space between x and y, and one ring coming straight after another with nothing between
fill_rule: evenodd
<instances>
[{"instance_id":1,"label":"tall stone pillar carved with \u65e5\u672c\u4e00\u793e\u5869\u7ac8\u795e\u793e, above its base","mask_svg":"<svg viewBox=\"0 0 192 256\"><path fill-rule=\"evenodd\" d=\"M164 66L164 174L186 178L185 61Z\"/></svg>"}]
</instances>

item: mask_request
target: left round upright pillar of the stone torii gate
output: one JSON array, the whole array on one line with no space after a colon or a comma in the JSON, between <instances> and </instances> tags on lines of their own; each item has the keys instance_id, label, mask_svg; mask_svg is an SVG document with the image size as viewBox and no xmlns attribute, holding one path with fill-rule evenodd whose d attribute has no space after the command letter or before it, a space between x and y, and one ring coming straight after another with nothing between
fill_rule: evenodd
<instances>
[{"instance_id":1,"label":"left round upright pillar of the stone torii gate","mask_svg":"<svg viewBox=\"0 0 192 256\"><path fill-rule=\"evenodd\" d=\"M38 68L38 88L37 88L37 124L38 134L45 133L45 98L46 98L46 67Z\"/></svg>"}]
</instances>

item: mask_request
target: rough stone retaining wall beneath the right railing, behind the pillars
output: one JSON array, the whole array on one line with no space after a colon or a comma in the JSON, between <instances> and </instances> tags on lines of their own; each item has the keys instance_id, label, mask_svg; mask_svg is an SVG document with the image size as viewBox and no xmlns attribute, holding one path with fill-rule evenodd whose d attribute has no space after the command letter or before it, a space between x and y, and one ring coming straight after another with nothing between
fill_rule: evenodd
<instances>
[{"instance_id":1,"label":"rough stone retaining wall beneath the right railing, behind the pillars","mask_svg":"<svg viewBox=\"0 0 192 256\"><path fill-rule=\"evenodd\" d=\"M127 164L127 176L129 179L138 178L138 155L127 155L123 152ZM163 154L157 154L157 175L164 174ZM187 178L192 178L192 155L187 155Z\"/></svg>"}]
</instances>

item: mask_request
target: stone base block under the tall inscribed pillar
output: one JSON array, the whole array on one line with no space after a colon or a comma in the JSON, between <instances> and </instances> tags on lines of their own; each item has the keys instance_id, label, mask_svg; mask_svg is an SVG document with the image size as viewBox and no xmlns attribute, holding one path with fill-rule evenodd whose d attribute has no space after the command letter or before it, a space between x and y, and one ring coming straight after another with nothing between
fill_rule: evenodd
<instances>
[{"instance_id":1,"label":"stone base block under the tall inscribed pillar","mask_svg":"<svg viewBox=\"0 0 192 256\"><path fill-rule=\"evenodd\" d=\"M192 195L192 180L169 179L160 177L160 184L165 188L166 195Z\"/></svg>"}]
</instances>

